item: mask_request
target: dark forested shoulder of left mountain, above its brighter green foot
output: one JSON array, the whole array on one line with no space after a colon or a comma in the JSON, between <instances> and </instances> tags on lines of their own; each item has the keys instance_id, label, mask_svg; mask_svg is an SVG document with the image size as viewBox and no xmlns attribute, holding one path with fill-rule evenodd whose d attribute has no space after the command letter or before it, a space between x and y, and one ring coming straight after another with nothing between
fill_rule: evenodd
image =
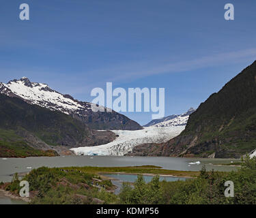
<instances>
[{"instance_id":1,"label":"dark forested shoulder of left mountain, above its brighter green foot","mask_svg":"<svg viewBox=\"0 0 256 218\"><path fill-rule=\"evenodd\" d=\"M76 144L88 134L86 125L72 116L5 95L0 95L0 128L15 132L27 130L50 145Z\"/></svg>"}]
</instances>

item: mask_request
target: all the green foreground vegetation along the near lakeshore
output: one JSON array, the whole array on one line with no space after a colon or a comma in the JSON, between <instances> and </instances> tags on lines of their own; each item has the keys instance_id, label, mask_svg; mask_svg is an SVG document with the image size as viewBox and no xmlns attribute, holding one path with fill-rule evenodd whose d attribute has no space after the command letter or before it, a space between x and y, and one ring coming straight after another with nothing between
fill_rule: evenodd
<instances>
[{"instance_id":1,"label":"all the green foreground vegetation along the near lakeshore","mask_svg":"<svg viewBox=\"0 0 256 218\"><path fill-rule=\"evenodd\" d=\"M134 184L123 183L121 193L116 196L111 181L102 180L104 176L99 173L118 170L139 174ZM160 182L157 174L150 183L145 183L141 173L154 170L167 173L155 166L42 167L32 170L22 180L29 182L31 204L256 204L256 157L242 159L241 168L236 172L207 172L203 167L197 178ZM234 197L225 197L226 181L233 181ZM18 194L19 183L18 174L14 174L12 183L0 185Z\"/></svg>"}]
</instances>

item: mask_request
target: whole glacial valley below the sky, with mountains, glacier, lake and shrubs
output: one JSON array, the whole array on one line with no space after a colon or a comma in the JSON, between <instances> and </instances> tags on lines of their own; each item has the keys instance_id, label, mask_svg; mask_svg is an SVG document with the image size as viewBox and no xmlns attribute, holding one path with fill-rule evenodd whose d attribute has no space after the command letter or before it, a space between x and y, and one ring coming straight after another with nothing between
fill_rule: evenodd
<instances>
[{"instance_id":1,"label":"whole glacial valley below the sky, with mountains, glacier, lake and shrubs","mask_svg":"<svg viewBox=\"0 0 256 218\"><path fill-rule=\"evenodd\" d=\"M249 176L250 189L255 179L255 65L197 110L144 127L108 108L94 112L90 103L28 78L1 83L0 203L22 203L20 178L32 184L29 204L190 204L194 194L212 203L212 180L216 204L229 203L218 188L223 179L240 184ZM203 184L199 193L180 198L197 184ZM147 191L136 200L141 187ZM172 198L163 194L169 190ZM236 196L233 203L241 200L252 198Z\"/></svg>"}]
</instances>

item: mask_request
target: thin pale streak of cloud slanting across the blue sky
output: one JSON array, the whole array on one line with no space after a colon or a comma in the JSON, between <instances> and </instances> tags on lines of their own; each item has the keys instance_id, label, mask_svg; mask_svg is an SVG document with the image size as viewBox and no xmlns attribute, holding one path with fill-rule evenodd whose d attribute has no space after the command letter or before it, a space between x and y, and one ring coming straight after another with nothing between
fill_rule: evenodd
<instances>
[{"instance_id":1,"label":"thin pale streak of cloud slanting across the blue sky","mask_svg":"<svg viewBox=\"0 0 256 218\"><path fill-rule=\"evenodd\" d=\"M255 59L256 48L251 48L234 52L225 52L218 55L211 55L193 60L167 63L157 67L150 66L148 63L132 63L109 69L98 69L87 72L86 74L94 75L94 78L99 78L98 80L94 80L89 87L100 87L100 85L104 85L105 82L116 82L121 84L123 82L134 81L147 76L188 72L205 67L230 65L232 63L242 61L254 61ZM88 90L88 87L86 89ZM83 91L85 91L85 87L77 87L76 89L72 90L72 93L83 93Z\"/></svg>"}]
</instances>

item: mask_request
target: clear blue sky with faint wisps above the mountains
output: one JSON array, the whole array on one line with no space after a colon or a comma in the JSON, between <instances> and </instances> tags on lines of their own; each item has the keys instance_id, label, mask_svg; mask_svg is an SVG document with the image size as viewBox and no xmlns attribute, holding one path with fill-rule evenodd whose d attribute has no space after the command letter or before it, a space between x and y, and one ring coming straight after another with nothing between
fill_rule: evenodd
<instances>
[{"instance_id":1,"label":"clear blue sky with faint wisps above the mountains","mask_svg":"<svg viewBox=\"0 0 256 218\"><path fill-rule=\"evenodd\" d=\"M18 18L21 3L31 20ZM235 20L224 19L225 3ZM182 113L255 61L255 11L253 0L2 0L0 81L27 76L89 102L106 82L163 87L165 115Z\"/></svg>"}]
</instances>

